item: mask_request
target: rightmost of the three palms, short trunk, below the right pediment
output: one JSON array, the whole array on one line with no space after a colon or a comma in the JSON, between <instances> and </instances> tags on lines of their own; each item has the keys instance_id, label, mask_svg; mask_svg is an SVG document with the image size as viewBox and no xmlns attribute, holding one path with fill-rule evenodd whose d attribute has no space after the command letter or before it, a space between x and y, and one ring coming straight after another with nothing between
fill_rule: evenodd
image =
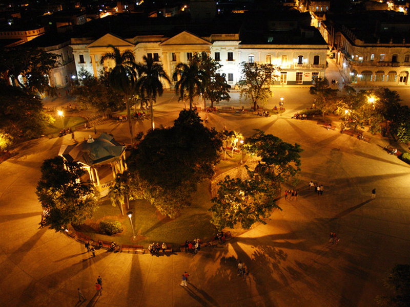
<instances>
[{"instance_id":1,"label":"rightmost of the three palms, short trunk, below the right pediment","mask_svg":"<svg viewBox=\"0 0 410 307\"><path fill-rule=\"evenodd\" d=\"M189 99L189 109L192 110L194 97L201 92L203 72L197 63L191 61L189 64L178 63L175 67L173 79L179 80L175 84L175 92L179 95L178 100L185 100L186 94ZM187 93L186 93L187 92Z\"/></svg>"}]
</instances>

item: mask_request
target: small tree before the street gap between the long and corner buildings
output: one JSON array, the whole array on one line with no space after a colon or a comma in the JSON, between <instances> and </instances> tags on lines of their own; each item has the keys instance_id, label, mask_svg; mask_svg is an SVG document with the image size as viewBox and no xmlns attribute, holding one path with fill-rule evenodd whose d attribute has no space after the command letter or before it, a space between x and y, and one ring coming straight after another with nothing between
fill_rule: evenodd
<instances>
[{"instance_id":1,"label":"small tree before the street gap between the long and corner buildings","mask_svg":"<svg viewBox=\"0 0 410 307\"><path fill-rule=\"evenodd\" d=\"M337 108L337 93L339 90L334 90L329 86L329 81L326 78L318 78L314 86L310 87L309 92L315 95L315 105L322 115L333 112Z\"/></svg>"}]
</instances>

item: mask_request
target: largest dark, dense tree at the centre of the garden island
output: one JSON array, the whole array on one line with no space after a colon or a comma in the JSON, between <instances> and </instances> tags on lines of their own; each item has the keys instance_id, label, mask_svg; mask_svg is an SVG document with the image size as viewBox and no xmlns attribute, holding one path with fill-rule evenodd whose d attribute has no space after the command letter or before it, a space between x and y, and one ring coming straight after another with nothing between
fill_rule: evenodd
<instances>
[{"instance_id":1,"label":"largest dark, dense tree at the centre of the garden island","mask_svg":"<svg viewBox=\"0 0 410 307\"><path fill-rule=\"evenodd\" d=\"M127 159L137 194L174 217L198 182L212 177L220 147L219 134L195 111L181 111L173 127L150 130Z\"/></svg>"}]
</instances>

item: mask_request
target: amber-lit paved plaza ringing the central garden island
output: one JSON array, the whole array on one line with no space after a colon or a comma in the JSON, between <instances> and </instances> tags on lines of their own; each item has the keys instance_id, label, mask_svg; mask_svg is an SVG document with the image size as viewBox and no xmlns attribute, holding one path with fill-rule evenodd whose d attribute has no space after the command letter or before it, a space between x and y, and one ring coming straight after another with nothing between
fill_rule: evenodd
<instances>
[{"instance_id":1,"label":"amber-lit paved plaza ringing the central garden island","mask_svg":"<svg viewBox=\"0 0 410 307\"><path fill-rule=\"evenodd\" d=\"M170 125L178 105L156 106L158 125ZM296 106L296 104L295 104ZM180 107L180 105L179 105ZM298 106L299 107L299 106ZM39 166L57 155L66 139L33 140L0 164L1 306L374 306L382 278L396 262L409 262L410 166L380 145L327 131L316 122L282 117L209 115L209 125L250 134L259 128L304 148L297 201L279 201L267 225L197 255L112 254L89 258L83 245L40 229L34 193ZM147 129L149 122L137 123ZM127 127L108 123L127 139ZM76 138L88 133L78 133ZM324 185L322 196L306 188ZM377 197L370 200L373 188ZM340 237L327 244L330 231ZM250 269L236 275L236 260ZM180 287L183 271L189 286ZM94 283L103 276L103 296ZM77 303L80 287L88 299Z\"/></svg>"}]
</instances>

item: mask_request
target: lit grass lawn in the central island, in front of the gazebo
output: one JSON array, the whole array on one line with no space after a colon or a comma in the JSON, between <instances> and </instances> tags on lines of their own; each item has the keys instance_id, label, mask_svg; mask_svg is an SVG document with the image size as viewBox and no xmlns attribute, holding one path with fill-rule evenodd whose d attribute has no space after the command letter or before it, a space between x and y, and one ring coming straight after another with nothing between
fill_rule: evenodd
<instances>
[{"instance_id":1,"label":"lit grass lawn in the central island, in front of the gazebo","mask_svg":"<svg viewBox=\"0 0 410 307\"><path fill-rule=\"evenodd\" d=\"M238 166L240 154L234 159L227 156L221 160L215 169L215 175ZM192 195L191 207L182 210L181 215L171 220L161 215L154 206L144 200L130 202L130 211L133 212L132 223L136 238L133 239L131 223L128 216L121 215L118 207L113 207L108 198L101 200L99 209L92 219L88 220L81 228L81 232L94 240L115 241L117 244L137 244L147 247L152 242L166 242L173 248L178 248L185 240L194 238L208 239L217 232L210 223L211 207L210 181L206 180L198 185L197 191ZM125 213L128 210L125 208ZM98 233L98 224L101 221L118 221L122 224L122 233L112 236Z\"/></svg>"}]
</instances>

